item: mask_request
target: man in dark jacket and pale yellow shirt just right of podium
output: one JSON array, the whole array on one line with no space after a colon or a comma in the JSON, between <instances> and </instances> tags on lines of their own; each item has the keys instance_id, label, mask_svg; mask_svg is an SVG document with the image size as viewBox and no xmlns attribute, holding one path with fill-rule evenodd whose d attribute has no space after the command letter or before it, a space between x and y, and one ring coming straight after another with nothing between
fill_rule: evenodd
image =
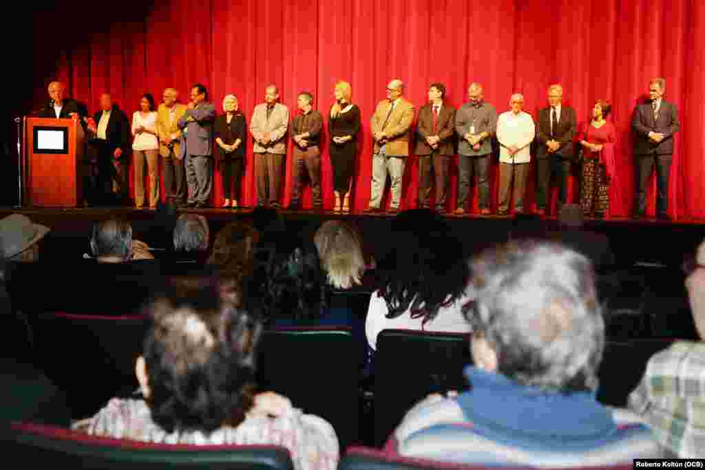
<instances>
[{"instance_id":1,"label":"man in dark jacket and pale yellow shirt just right of podium","mask_svg":"<svg viewBox=\"0 0 705 470\"><path fill-rule=\"evenodd\" d=\"M107 93L100 96L100 108L89 128L95 136L90 143L98 156L97 191L102 199L100 202L115 204L117 195L121 204L129 204L130 121ZM95 128L92 128L93 125Z\"/></svg>"}]
</instances>

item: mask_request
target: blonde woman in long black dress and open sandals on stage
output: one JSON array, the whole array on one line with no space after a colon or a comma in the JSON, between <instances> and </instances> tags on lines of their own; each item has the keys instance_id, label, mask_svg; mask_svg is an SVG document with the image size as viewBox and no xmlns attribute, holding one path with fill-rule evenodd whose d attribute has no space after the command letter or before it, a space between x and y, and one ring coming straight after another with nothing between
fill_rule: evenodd
<instances>
[{"instance_id":1,"label":"blonde woman in long black dress and open sandals on stage","mask_svg":"<svg viewBox=\"0 0 705 470\"><path fill-rule=\"evenodd\" d=\"M357 132L360 131L360 108L350 103L353 89L343 80L336 83L336 103L331 108L328 132L331 135L331 165L336 212L350 212L350 185L355 170ZM343 202L341 205L341 194Z\"/></svg>"}]
</instances>

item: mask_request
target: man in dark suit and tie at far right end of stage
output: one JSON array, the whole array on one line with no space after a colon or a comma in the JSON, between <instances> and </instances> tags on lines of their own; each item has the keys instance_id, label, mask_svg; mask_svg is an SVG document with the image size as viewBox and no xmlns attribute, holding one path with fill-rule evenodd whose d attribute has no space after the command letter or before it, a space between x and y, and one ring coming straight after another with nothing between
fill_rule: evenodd
<instances>
[{"instance_id":1,"label":"man in dark suit and tie at far right end of stage","mask_svg":"<svg viewBox=\"0 0 705 470\"><path fill-rule=\"evenodd\" d=\"M634 217L644 216L646 211L646 185L651 171L656 166L656 215L667 219L668 173L673 159L673 135L678 132L678 109L675 104L663 99L666 80L654 78L649 82L649 101L637 104L632 116L634 130L634 155L637 159L637 197Z\"/></svg>"}]
</instances>

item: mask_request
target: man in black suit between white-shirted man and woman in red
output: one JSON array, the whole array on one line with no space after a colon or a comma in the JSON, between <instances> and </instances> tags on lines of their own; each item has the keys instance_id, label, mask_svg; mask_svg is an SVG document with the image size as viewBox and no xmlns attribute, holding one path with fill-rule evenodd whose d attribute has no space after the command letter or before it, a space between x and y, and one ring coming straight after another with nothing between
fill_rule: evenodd
<instances>
[{"instance_id":1,"label":"man in black suit between white-shirted man and woman in red","mask_svg":"<svg viewBox=\"0 0 705 470\"><path fill-rule=\"evenodd\" d=\"M575 158L575 109L563 106L563 87L548 87L548 108L539 110L537 128L537 214L550 211L551 181L558 179L558 209L568 201L568 175Z\"/></svg>"}]
</instances>

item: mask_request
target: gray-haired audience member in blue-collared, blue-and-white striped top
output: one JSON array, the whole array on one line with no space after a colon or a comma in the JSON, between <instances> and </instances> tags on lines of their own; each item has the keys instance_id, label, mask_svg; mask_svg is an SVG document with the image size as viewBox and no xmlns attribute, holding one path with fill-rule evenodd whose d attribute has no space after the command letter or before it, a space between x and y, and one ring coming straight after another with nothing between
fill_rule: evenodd
<instances>
[{"instance_id":1,"label":"gray-haired audience member in blue-collared, blue-and-white striped top","mask_svg":"<svg viewBox=\"0 0 705 470\"><path fill-rule=\"evenodd\" d=\"M605 326L587 258L562 245L502 245L472 261L465 392L431 395L393 434L398 452L533 467L658 457L639 416L597 402Z\"/></svg>"}]
</instances>

